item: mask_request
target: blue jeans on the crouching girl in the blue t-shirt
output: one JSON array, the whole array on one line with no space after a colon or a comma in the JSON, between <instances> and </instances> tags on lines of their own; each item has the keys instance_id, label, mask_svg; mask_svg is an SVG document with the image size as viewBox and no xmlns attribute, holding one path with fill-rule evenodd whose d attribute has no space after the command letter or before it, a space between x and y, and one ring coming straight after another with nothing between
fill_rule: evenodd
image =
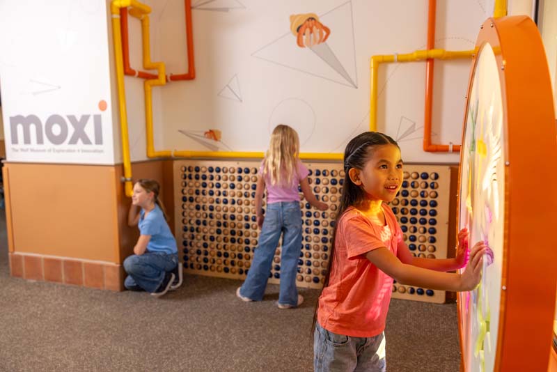
<instances>
[{"instance_id":1,"label":"blue jeans on the crouching girl in the blue t-shirt","mask_svg":"<svg viewBox=\"0 0 557 372\"><path fill-rule=\"evenodd\" d=\"M127 277L124 286L130 290L144 289L155 292L164 280L164 274L178 265L178 254L145 252L141 256L132 254L124 260Z\"/></svg>"}]
</instances>

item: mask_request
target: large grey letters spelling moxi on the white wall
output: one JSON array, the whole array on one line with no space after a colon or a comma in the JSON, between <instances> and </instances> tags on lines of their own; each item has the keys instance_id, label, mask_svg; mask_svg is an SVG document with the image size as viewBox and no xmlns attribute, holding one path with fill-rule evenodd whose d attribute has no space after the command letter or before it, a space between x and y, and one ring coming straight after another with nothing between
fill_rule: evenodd
<instances>
[{"instance_id":1,"label":"large grey letters spelling moxi on the white wall","mask_svg":"<svg viewBox=\"0 0 557 372\"><path fill-rule=\"evenodd\" d=\"M16 115L10 116L10 132L12 134L12 144L19 144L18 128L22 128L23 143L31 144L31 125L35 129L37 144L44 144L43 133L48 141L53 145L61 145L68 139L69 128L72 128L72 137L68 141L68 145L75 145L81 140L84 145L91 145L91 139L85 132L85 127L91 115L82 115L79 119L75 115L67 115L68 121L61 115L51 115L45 122L43 130L42 122L36 115ZM59 130L54 132L54 127L58 126ZM100 115L93 115L93 129L95 134L95 145L102 145L102 119Z\"/></svg>"}]
</instances>

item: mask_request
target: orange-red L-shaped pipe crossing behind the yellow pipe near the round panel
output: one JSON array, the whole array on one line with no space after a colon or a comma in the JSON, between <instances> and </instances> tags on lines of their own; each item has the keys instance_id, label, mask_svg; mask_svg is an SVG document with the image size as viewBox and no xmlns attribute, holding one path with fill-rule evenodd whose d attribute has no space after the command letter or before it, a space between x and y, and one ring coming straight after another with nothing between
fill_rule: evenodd
<instances>
[{"instance_id":1,"label":"orange-red L-shaped pipe crossing behind the yellow pipe near the round panel","mask_svg":"<svg viewBox=\"0 0 557 372\"><path fill-rule=\"evenodd\" d=\"M437 1L429 0L427 9L427 50L435 48L435 15ZM434 145L431 142L432 111L433 111L433 71L434 59L425 62L425 109L423 118L423 150L430 153L446 153L460 151L460 145Z\"/></svg>"}]
</instances>

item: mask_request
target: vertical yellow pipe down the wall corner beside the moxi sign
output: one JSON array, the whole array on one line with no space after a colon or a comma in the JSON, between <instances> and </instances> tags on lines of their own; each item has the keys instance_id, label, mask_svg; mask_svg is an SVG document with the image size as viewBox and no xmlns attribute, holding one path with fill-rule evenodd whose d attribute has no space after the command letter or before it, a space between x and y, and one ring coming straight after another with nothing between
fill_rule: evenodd
<instances>
[{"instance_id":1,"label":"vertical yellow pipe down the wall corner beside the moxi sign","mask_svg":"<svg viewBox=\"0 0 557 372\"><path fill-rule=\"evenodd\" d=\"M127 112L126 95L124 88L124 63L122 56L122 42L120 31L120 8L129 6L130 1L113 0L111 3L112 13L112 36L114 44L114 59L116 60L116 81L118 84L118 108L120 109L120 130L122 137L122 158L124 163L125 194L132 197L132 162L130 161L130 141L127 134Z\"/></svg>"}]
</instances>

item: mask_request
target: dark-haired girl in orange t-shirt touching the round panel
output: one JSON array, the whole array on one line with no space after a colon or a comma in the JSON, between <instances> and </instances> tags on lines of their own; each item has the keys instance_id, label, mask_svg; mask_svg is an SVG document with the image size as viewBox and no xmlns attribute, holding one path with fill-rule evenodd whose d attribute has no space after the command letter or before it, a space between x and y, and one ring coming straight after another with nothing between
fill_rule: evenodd
<instances>
[{"instance_id":1,"label":"dark-haired girl in orange t-shirt touching the round panel","mask_svg":"<svg viewBox=\"0 0 557 372\"><path fill-rule=\"evenodd\" d=\"M346 146L345 179L331 258L314 317L315 371L385 371L384 328L393 279L439 290L471 290L480 281L483 242L468 249L468 231L458 234L456 258L416 258L402 240L386 205L402 185L398 144L365 132ZM462 268L462 274L446 271Z\"/></svg>"}]
</instances>

